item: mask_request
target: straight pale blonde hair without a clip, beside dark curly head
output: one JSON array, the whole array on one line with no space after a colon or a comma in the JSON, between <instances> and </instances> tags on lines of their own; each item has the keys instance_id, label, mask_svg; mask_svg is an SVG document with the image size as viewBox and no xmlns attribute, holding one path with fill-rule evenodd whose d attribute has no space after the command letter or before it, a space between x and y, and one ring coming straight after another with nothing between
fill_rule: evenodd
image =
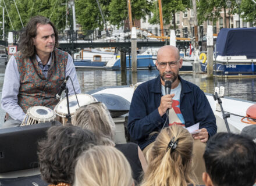
<instances>
[{"instance_id":1,"label":"straight pale blonde hair without a clip, beside dark curly head","mask_svg":"<svg viewBox=\"0 0 256 186\"><path fill-rule=\"evenodd\" d=\"M93 146L77 159L74 186L131 186L131 167L112 146Z\"/></svg>"}]
</instances>

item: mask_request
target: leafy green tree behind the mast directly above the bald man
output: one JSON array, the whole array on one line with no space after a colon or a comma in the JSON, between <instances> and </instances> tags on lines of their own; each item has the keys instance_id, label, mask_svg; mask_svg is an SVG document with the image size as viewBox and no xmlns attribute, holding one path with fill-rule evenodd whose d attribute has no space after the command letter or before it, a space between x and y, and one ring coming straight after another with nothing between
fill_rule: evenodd
<instances>
[{"instance_id":1,"label":"leafy green tree behind the mast directly above the bald man","mask_svg":"<svg viewBox=\"0 0 256 186\"><path fill-rule=\"evenodd\" d=\"M158 7L158 1L155 1L154 6L152 6L152 12L154 13L154 16L150 19L151 24L160 23ZM173 22L173 27L176 30L175 13L190 8L191 5L189 0L162 0L163 24L171 24Z\"/></svg>"}]
</instances>

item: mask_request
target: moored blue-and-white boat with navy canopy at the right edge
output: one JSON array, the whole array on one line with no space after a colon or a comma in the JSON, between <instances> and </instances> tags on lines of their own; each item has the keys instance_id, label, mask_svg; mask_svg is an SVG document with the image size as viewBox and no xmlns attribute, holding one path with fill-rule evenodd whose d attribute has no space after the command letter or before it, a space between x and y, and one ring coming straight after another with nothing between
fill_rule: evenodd
<instances>
[{"instance_id":1,"label":"moored blue-and-white boat with navy canopy at the right edge","mask_svg":"<svg viewBox=\"0 0 256 186\"><path fill-rule=\"evenodd\" d=\"M256 28L222 28L216 41L214 75L256 76ZM207 71L207 63L200 63Z\"/></svg>"}]
</instances>

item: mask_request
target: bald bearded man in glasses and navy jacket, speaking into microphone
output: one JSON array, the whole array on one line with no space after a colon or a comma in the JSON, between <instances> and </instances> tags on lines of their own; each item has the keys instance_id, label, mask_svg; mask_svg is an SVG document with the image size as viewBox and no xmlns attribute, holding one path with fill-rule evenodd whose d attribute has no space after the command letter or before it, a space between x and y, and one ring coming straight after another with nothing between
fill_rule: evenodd
<instances>
[{"instance_id":1,"label":"bald bearded man in glasses and navy jacket, speaking into microphone","mask_svg":"<svg viewBox=\"0 0 256 186\"><path fill-rule=\"evenodd\" d=\"M157 137L157 134L150 134L173 124L190 127L200 123L201 131L193 138L201 142L207 142L216 133L215 116L204 92L179 76L182 63L179 49L170 45L161 47L155 63L159 76L138 85L134 91L127 128L144 154ZM172 83L172 89L170 94L165 95L167 80Z\"/></svg>"}]
</instances>

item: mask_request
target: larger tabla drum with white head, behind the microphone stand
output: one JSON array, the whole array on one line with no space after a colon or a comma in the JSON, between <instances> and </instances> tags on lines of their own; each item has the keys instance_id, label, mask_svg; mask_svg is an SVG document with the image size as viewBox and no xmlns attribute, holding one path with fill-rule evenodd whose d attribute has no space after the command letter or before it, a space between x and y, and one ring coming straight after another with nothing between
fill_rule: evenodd
<instances>
[{"instance_id":1,"label":"larger tabla drum with white head, behind the microphone stand","mask_svg":"<svg viewBox=\"0 0 256 186\"><path fill-rule=\"evenodd\" d=\"M77 99L79 104L77 103ZM70 115L73 123L73 116L76 110L83 105L88 105L90 103L96 102L97 99L95 99L93 96L89 94L77 94L76 95L70 95L69 96L69 110ZM55 106L54 112L56 113L57 120L60 121L62 124L67 123L66 115L67 115L67 99L63 98L58 105Z\"/></svg>"}]
</instances>

